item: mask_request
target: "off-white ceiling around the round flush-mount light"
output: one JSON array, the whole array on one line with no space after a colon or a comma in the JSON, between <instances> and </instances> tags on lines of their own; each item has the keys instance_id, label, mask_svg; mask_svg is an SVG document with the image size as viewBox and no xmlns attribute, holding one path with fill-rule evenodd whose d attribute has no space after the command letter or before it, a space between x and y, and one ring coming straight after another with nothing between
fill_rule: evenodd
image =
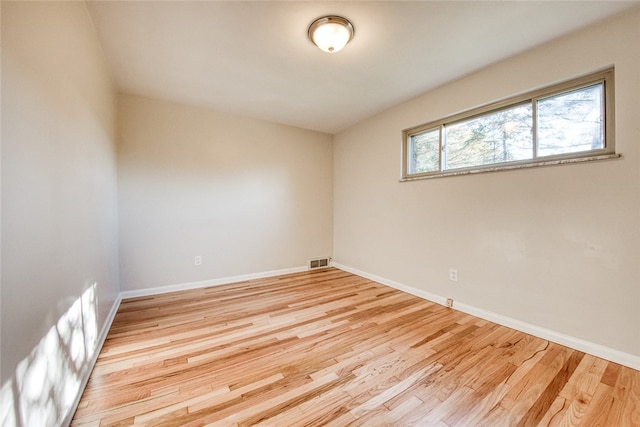
<instances>
[{"instance_id":1,"label":"off-white ceiling around the round flush-mount light","mask_svg":"<svg viewBox=\"0 0 640 427\"><path fill-rule=\"evenodd\" d=\"M638 1L88 1L123 92L336 133ZM355 26L341 52L307 28Z\"/></svg>"}]
</instances>

